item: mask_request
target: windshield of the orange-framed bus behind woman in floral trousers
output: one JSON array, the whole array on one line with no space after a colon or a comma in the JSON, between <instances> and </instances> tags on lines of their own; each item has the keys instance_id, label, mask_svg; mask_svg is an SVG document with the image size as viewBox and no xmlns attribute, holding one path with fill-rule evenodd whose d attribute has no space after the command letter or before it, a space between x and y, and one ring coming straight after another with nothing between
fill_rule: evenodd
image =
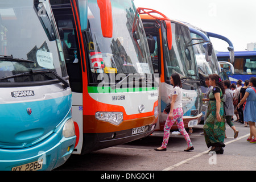
<instances>
[{"instance_id":1,"label":"windshield of the orange-framed bus behind woman in floral trousers","mask_svg":"<svg viewBox=\"0 0 256 182\"><path fill-rule=\"evenodd\" d=\"M163 26L163 25L162 25ZM190 31L187 27L178 23L171 23L172 27L172 49L169 51L166 42L166 29L163 31L164 57L166 64L166 79L170 80L172 73L178 73L181 78L192 78L199 80L197 77L197 65L193 56Z\"/></svg>"}]
</instances>

